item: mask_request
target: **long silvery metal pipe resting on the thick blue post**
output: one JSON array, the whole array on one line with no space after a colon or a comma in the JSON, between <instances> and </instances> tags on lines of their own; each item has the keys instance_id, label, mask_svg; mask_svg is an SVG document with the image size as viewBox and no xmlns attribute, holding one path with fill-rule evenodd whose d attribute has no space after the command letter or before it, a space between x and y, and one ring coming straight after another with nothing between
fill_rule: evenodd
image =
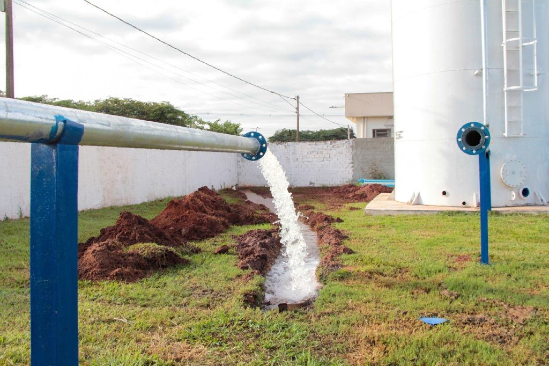
<instances>
[{"instance_id":1,"label":"long silvery metal pipe resting on the thick blue post","mask_svg":"<svg viewBox=\"0 0 549 366\"><path fill-rule=\"evenodd\" d=\"M82 125L79 145L248 154L261 147L250 137L0 97L2 140L54 143L63 135L66 119Z\"/></svg>"}]
</instances>

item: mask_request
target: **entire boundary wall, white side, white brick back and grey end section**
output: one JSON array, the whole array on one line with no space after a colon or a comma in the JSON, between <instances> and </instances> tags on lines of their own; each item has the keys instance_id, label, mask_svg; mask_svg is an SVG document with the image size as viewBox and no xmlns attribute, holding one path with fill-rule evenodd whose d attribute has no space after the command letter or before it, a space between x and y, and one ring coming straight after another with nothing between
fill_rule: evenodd
<instances>
[{"instance_id":1,"label":"entire boundary wall, white side, white brick back and grey end section","mask_svg":"<svg viewBox=\"0 0 549 366\"><path fill-rule=\"evenodd\" d=\"M335 186L369 178L372 163L393 176L393 140L271 143L292 186ZM30 213L29 143L0 142L0 219ZM257 162L240 154L80 147L80 210L183 196L198 187L262 186Z\"/></svg>"}]
</instances>

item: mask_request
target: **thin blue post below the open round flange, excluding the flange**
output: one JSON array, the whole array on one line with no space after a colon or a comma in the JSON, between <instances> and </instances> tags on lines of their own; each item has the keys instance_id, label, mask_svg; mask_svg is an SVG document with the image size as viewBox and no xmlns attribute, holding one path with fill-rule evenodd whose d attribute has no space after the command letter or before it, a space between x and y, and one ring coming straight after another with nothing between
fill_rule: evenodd
<instances>
[{"instance_id":1,"label":"thin blue post below the open round flange, excluding the flange","mask_svg":"<svg viewBox=\"0 0 549 366\"><path fill-rule=\"evenodd\" d=\"M480 263L489 264L488 211L491 210L490 151L479 154L480 178Z\"/></svg>"}]
</instances>

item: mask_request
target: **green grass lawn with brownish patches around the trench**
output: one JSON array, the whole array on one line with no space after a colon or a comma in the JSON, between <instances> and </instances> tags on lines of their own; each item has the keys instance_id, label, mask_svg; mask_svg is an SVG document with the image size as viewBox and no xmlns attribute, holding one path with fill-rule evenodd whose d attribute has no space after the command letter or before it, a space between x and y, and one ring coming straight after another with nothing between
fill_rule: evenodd
<instances>
[{"instance_id":1,"label":"green grass lawn with brownish patches around the trench","mask_svg":"<svg viewBox=\"0 0 549 366\"><path fill-rule=\"evenodd\" d=\"M80 213L79 240L122 210L152 218L167 200ZM478 263L474 214L366 217L365 204L324 210L344 220L344 268L312 309L262 312L242 295L234 227L195 243L191 264L132 284L79 284L83 365L547 364L549 216L490 215L491 265ZM322 207L322 205L317 205ZM0 222L0 364L29 363L29 220ZM450 319L431 327L423 316Z\"/></svg>"}]
</instances>

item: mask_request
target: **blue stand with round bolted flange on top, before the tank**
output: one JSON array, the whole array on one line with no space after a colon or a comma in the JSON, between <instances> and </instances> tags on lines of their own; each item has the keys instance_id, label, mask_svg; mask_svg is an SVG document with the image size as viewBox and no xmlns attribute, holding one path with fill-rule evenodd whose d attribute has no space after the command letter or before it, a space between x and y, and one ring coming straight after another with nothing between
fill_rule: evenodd
<instances>
[{"instance_id":1,"label":"blue stand with round bolted flange on top, before the tank","mask_svg":"<svg viewBox=\"0 0 549 366\"><path fill-rule=\"evenodd\" d=\"M479 157L480 183L480 263L489 264L488 211L492 209L490 189L490 131L479 122L469 122L457 131L457 146L468 155Z\"/></svg>"}]
</instances>

